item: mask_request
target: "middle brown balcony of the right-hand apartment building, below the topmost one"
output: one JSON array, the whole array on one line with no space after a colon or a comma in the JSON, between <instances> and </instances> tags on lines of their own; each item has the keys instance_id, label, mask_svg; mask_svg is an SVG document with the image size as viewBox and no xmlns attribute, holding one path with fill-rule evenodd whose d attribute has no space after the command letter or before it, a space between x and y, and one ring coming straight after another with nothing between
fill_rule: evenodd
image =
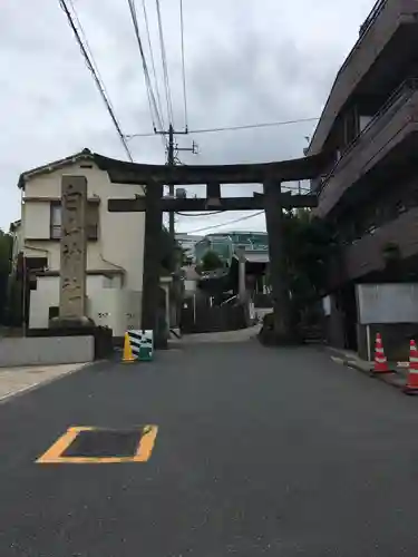
<instances>
[{"instance_id":1,"label":"middle brown balcony of the right-hand apartment building, below the topmost one","mask_svg":"<svg viewBox=\"0 0 418 557\"><path fill-rule=\"evenodd\" d=\"M324 217L344 196L371 187L377 170L405 166L418 147L418 78L406 80L347 147L319 189L315 213ZM367 180L366 180L367 178ZM370 193L371 189L368 189Z\"/></svg>"}]
</instances>

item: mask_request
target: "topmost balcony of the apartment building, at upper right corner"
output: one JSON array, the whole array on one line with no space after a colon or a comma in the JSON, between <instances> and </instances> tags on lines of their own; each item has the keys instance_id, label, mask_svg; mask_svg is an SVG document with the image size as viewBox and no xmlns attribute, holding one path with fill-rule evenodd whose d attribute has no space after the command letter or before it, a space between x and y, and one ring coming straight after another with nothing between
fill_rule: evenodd
<instances>
[{"instance_id":1,"label":"topmost balcony of the apartment building, at upper right corner","mask_svg":"<svg viewBox=\"0 0 418 557\"><path fill-rule=\"evenodd\" d=\"M360 36L341 66L309 154L319 153L353 94L390 91L408 75L418 48L418 0L379 0L360 28Z\"/></svg>"}]
</instances>

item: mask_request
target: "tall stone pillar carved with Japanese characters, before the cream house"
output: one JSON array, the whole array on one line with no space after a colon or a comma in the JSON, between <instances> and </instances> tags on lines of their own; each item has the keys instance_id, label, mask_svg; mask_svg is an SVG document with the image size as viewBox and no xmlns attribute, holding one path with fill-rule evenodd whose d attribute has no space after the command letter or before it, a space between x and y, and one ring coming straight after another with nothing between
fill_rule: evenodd
<instances>
[{"instance_id":1,"label":"tall stone pillar carved with Japanese characters, before the cream house","mask_svg":"<svg viewBox=\"0 0 418 557\"><path fill-rule=\"evenodd\" d=\"M60 319L86 315L86 177L62 176Z\"/></svg>"}]
</instances>

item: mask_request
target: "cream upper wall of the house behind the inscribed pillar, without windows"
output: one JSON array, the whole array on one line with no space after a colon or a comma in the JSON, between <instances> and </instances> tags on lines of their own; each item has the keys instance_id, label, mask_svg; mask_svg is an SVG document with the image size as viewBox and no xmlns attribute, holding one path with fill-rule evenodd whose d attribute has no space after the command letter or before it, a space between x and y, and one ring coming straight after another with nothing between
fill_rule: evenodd
<instances>
[{"instance_id":1,"label":"cream upper wall of the house behind the inscribed pillar, without windows","mask_svg":"<svg viewBox=\"0 0 418 557\"><path fill-rule=\"evenodd\" d=\"M22 206L22 234L25 255L48 257L50 271L59 271L60 245L50 240L51 201L61 197L64 175L84 175L88 183L88 198L99 198L98 240L88 242L87 270L125 270L125 287L140 292L143 289L143 258L145 214L109 213L107 199L140 195L137 185L111 184L106 172L93 163L75 163L49 174L29 179L25 187ZM30 201L37 198L38 201ZM39 199L45 198L45 202ZM30 240L29 240L30 238Z\"/></svg>"}]
</instances>

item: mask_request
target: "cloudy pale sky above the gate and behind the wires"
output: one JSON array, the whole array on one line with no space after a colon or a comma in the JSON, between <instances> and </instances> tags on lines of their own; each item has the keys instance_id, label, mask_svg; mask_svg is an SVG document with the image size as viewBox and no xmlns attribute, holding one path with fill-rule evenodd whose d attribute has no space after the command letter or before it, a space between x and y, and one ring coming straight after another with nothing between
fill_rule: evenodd
<instances>
[{"instance_id":1,"label":"cloudy pale sky above the gate and behind the wires","mask_svg":"<svg viewBox=\"0 0 418 557\"><path fill-rule=\"evenodd\" d=\"M67 0L68 3L69 0ZM163 119L167 123L155 0L144 0ZM152 72L143 0L139 31ZM187 123L191 130L317 118L336 74L376 0L183 0ZM161 0L174 125L184 129L179 0ZM20 217L21 172L85 147L126 159L59 0L1 0L0 227ZM140 57L127 0L72 0L123 133L152 133ZM99 7L99 8L98 8ZM153 72L152 72L153 76ZM178 136L184 164L298 158L315 121ZM158 136L129 139L138 163L163 164ZM224 186L223 195L252 195ZM195 190L203 195L203 188ZM263 231L263 214L177 216L178 232ZM222 225L222 226L221 226ZM210 228L210 227L214 228ZM205 228L205 229L202 229Z\"/></svg>"}]
</instances>

